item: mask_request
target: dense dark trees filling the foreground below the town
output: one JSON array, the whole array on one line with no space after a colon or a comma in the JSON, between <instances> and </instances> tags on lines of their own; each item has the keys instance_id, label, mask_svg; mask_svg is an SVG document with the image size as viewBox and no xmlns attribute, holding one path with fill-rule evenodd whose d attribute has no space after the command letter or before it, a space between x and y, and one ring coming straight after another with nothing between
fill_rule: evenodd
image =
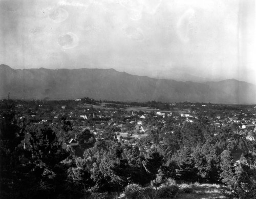
<instances>
[{"instance_id":1,"label":"dense dark trees filling the foreground below the town","mask_svg":"<svg viewBox=\"0 0 256 199\"><path fill-rule=\"evenodd\" d=\"M246 139L205 117L169 131L151 130L129 145L118 141L113 128L96 137L65 117L55 124L19 120L13 105L2 115L3 199L111 198L123 191L127 198L152 191L168 198L177 196L177 183L195 182L223 184L233 198L256 194L255 135ZM77 146L67 144L71 138Z\"/></svg>"}]
</instances>

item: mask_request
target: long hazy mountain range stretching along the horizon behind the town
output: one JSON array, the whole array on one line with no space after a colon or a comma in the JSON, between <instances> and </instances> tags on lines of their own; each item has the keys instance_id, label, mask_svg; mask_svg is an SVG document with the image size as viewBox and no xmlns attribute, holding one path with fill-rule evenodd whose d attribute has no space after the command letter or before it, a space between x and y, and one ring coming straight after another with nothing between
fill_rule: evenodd
<instances>
[{"instance_id":1,"label":"long hazy mountain range stretching along the horizon behind the town","mask_svg":"<svg viewBox=\"0 0 256 199\"><path fill-rule=\"evenodd\" d=\"M256 86L236 79L197 83L136 76L114 69L18 69L0 65L0 98L255 104Z\"/></svg>"}]
</instances>

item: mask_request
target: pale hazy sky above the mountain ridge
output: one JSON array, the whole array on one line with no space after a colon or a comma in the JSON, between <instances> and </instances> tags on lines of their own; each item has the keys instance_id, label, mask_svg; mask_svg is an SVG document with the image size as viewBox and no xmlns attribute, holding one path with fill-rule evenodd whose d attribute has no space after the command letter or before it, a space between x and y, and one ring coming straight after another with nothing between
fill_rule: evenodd
<instances>
[{"instance_id":1,"label":"pale hazy sky above the mountain ridge","mask_svg":"<svg viewBox=\"0 0 256 199\"><path fill-rule=\"evenodd\" d=\"M0 0L0 64L256 84L255 0Z\"/></svg>"}]
</instances>

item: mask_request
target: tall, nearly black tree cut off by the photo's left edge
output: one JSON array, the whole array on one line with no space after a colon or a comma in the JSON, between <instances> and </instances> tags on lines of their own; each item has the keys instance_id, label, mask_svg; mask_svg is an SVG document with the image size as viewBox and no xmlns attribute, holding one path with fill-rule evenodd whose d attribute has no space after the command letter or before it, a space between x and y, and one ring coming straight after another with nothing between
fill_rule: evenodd
<instances>
[{"instance_id":1,"label":"tall, nearly black tree cut off by the photo's left edge","mask_svg":"<svg viewBox=\"0 0 256 199\"><path fill-rule=\"evenodd\" d=\"M23 132L16 124L14 103L8 101L0 119L0 197L17 198L24 193L24 175L20 165ZM20 184L22 183L22 184Z\"/></svg>"}]
</instances>

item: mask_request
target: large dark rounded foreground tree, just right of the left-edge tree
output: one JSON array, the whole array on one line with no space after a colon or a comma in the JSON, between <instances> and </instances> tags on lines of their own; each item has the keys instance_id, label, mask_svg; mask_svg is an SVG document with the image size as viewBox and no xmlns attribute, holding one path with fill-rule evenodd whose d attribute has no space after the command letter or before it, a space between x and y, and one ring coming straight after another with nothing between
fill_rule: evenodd
<instances>
[{"instance_id":1,"label":"large dark rounded foreground tree, just right of the left-edge tree","mask_svg":"<svg viewBox=\"0 0 256 199\"><path fill-rule=\"evenodd\" d=\"M34 196L36 198L56 198L65 190L66 172L61 161L70 152L63 148L55 132L47 125L31 125L25 130L25 158L29 160ZM31 179L31 180L32 180Z\"/></svg>"}]
</instances>

